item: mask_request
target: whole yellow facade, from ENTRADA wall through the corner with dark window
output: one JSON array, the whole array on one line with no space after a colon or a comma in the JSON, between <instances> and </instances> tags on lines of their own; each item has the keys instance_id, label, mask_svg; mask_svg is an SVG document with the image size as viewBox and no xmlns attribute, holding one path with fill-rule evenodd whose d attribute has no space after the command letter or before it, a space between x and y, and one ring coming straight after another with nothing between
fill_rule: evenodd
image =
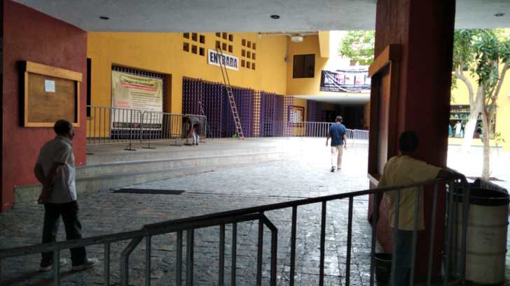
<instances>
[{"instance_id":1,"label":"whole yellow facade, from ENTRADA wall through the corner with dark window","mask_svg":"<svg viewBox=\"0 0 510 286\"><path fill-rule=\"evenodd\" d=\"M230 85L263 90L287 95L321 95L319 85L321 71L328 64L330 51L330 33L319 32L307 35L303 42L293 42L289 36L259 36L258 33L198 33L198 40L193 36L185 38L182 33L124 33L91 32L88 34L88 57L91 61L91 104L92 106L111 106L111 70L112 66L161 73L165 76L165 106L163 110L170 113L182 113L183 78L200 78L214 83L223 83L219 66L208 64L208 50L216 50L216 42L232 45L233 52L224 51L239 59L239 70L228 69ZM232 41L230 41L230 35ZM205 43L200 43L200 36ZM242 50L247 49L243 41L256 44L255 69L241 66ZM245 43L246 43L245 42ZM198 52L186 52L193 45L203 48L205 55ZM313 78L293 78L294 55L315 55L315 76ZM306 100L294 99L295 106L305 108ZM108 115L104 114L105 117ZM304 118L306 120L306 117ZM108 129L106 126L95 127Z\"/></svg>"}]
</instances>

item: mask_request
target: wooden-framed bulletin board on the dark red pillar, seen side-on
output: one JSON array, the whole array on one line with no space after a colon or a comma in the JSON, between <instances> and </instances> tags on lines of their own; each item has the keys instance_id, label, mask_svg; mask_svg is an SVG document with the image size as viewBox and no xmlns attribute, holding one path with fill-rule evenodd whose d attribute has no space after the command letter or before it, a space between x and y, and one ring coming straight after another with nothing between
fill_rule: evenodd
<instances>
[{"instance_id":1,"label":"wooden-framed bulletin board on the dark red pillar, seen side-on","mask_svg":"<svg viewBox=\"0 0 510 286\"><path fill-rule=\"evenodd\" d=\"M368 178L378 184L387 159L397 155L400 46L388 45L368 68L371 77Z\"/></svg>"}]
</instances>

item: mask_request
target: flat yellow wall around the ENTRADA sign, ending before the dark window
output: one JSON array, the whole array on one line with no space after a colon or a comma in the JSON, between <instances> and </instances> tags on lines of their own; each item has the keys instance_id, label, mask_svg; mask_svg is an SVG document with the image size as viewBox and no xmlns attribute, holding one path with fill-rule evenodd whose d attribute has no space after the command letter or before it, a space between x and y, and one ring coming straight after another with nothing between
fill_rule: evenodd
<instances>
[{"instance_id":1,"label":"flat yellow wall around the ENTRADA sign, ending before the dark window","mask_svg":"<svg viewBox=\"0 0 510 286\"><path fill-rule=\"evenodd\" d=\"M212 82L223 82L219 66L207 64L207 50L215 50L216 40L228 42L206 33L205 56L183 50L183 34L177 33L102 33L88 34L88 57L92 60L92 105L111 106L111 66L127 66L133 69L153 71L172 76L170 111L182 112L182 79L202 78ZM259 38L256 33L233 34L233 52L226 52L242 59L242 39L256 43L256 69L228 70L230 84L285 94L287 69L287 37L267 36ZM228 42L230 43L230 42Z\"/></svg>"}]
</instances>

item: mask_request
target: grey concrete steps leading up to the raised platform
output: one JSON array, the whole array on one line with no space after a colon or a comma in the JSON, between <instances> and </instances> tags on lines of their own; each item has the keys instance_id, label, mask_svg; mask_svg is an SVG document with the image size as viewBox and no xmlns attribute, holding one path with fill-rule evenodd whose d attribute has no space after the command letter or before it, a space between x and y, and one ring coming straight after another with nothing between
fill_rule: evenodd
<instances>
[{"instance_id":1,"label":"grey concrete steps leading up to the raised platform","mask_svg":"<svg viewBox=\"0 0 510 286\"><path fill-rule=\"evenodd\" d=\"M193 175L234 166L246 166L281 159L284 152L246 152L233 155L180 157L172 159L92 164L76 171L78 196L111 188L148 183L155 180ZM209 152L211 154L214 152ZM236 152L234 152L236 153ZM41 185L15 187L15 203L34 203Z\"/></svg>"}]
</instances>

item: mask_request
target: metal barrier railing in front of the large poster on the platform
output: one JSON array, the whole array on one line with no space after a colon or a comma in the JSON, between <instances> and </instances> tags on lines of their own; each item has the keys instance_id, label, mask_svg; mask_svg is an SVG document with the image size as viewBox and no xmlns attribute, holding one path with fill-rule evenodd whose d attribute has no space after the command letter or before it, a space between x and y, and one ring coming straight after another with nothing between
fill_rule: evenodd
<instances>
[{"instance_id":1,"label":"metal barrier railing in front of the large poster on the platform","mask_svg":"<svg viewBox=\"0 0 510 286\"><path fill-rule=\"evenodd\" d=\"M181 114L105 106L87 108L90 110L87 145L127 144L126 149L132 150L133 143L142 143L146 144L145 148L152 148L152 143L177 141L186 135L187 126L183 124L184 115ZM202 121L198 134L205 137L207 118L192 116Z\"/></svg>"}]
</instances>

